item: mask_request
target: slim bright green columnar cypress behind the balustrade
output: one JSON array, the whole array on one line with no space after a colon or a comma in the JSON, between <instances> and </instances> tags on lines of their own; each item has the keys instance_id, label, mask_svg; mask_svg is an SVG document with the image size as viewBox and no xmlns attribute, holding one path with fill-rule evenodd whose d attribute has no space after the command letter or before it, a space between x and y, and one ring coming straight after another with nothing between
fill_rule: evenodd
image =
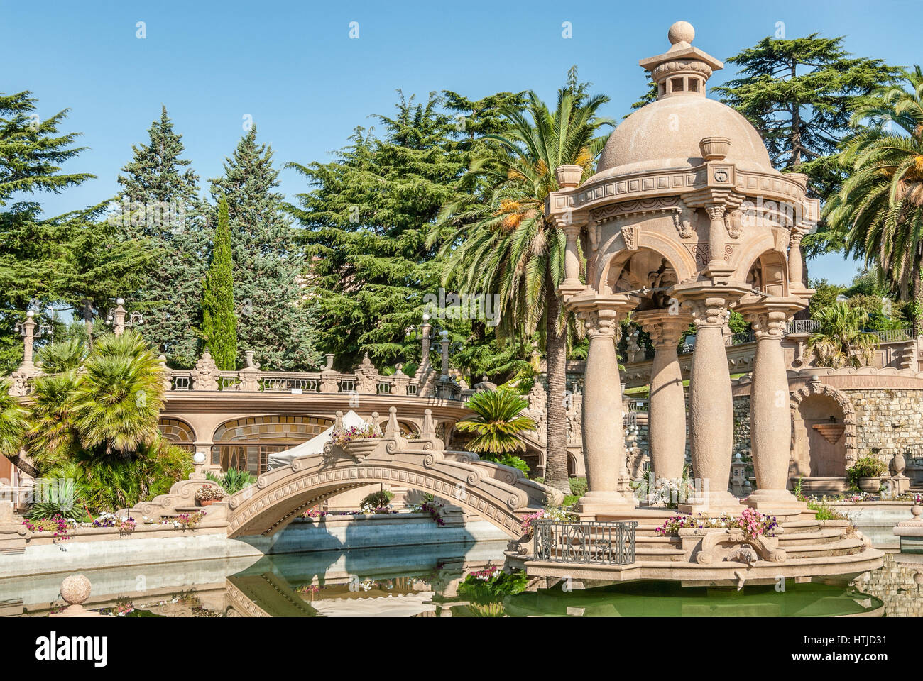
<instances>
[{"instance_id":1,"label":"slim bright green columnar cypress behind the balustrade","mask_svg":"<svg viewBox=\"0 0 923 681\"><path fill-rule=\"evenodd\" d=\"M234 316L234 263L231 257L231 226L228 203L218 203L211 264L202 294L202 335L215 364L222 371L237 368L237 318Z\"/></svg>"}]
</instances>

